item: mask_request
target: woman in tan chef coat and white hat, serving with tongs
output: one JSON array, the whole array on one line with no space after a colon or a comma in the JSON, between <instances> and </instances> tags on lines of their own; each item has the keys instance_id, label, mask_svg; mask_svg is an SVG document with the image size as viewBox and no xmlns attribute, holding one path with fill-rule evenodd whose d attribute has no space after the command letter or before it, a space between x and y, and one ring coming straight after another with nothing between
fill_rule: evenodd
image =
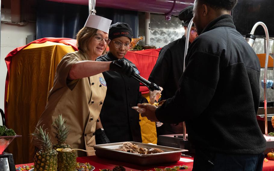
<instances>
[{"instance_id":1,"label":"woman in tan chef coat and white hat, serving with tongs","mask_svg":"<svg viewBox=\"0 0 274 171\"><path fill-rule=\"evenodd\" d=\"M98 56L105 53L106 45L110 42L110 24L111 20L89 15L85 26L77 34L79 51L66 54L57 66L45 111L36 126L47 129L53 144L56 140L51 125L55 118L62 114L70 128L67 144L72 148L93 150L89 146L95 145L95 130L102 128L99 114L107 91L102 72L113 70L127 76L134 73L133 68L125 60L95 61ZM115 63L122 66L122 69L117 68ZM79 157L94 153L77 151L77 155Z\"/></svg>"}]
</instances>

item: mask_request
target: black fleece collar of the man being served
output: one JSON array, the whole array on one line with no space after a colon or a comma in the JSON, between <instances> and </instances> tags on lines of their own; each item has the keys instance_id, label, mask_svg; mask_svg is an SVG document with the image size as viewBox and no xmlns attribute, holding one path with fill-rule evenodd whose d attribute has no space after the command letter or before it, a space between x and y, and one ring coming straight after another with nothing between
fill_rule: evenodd
<instances>
[{"instance_id":1,"label":"black fleece collar of the man being served","mask_svg":"<svg viewBox=\"0 0 274 171\"><path fill-rule=\"evenodd\" d=\"M209 30L213 30L216 27L232 27L236 29L232 20L232 16L229 14L224 14L224 15L221 15L220 17L215 18L210 23L208 23L207 26L202 31L202 33L207 32Z\"/></svg>"}]
</instances>

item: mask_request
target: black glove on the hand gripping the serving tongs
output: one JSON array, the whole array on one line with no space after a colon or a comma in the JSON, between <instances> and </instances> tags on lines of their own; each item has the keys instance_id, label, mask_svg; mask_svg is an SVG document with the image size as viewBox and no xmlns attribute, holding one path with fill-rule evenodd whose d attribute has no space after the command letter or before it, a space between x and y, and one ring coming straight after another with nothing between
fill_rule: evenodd
<instances>
[{"instance_id":1,"label":"black glove on the hand gripping the serving tongs","mask_svg":"<svg viewBox=\"0 0 274 171\"><path fill-rule=\"evenodd\" d=\"M121 67L119 67L118 65L120 65ZM125 59L118 59L116 61L112 61L109 66L109 70L125 74L126 76L134 74L133 67Z\"/></svg>"}]
</instances>

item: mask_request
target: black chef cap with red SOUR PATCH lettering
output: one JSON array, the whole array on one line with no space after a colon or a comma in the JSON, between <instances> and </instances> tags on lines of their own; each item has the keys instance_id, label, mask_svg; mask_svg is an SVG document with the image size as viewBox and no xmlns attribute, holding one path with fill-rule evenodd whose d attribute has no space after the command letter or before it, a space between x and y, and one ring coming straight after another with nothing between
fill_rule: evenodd
<instances>
[{"instance_id":1,"label":"black chef cap with red SOUR PATCH lettering","mask_svg":"<svg viewBox=\"0 0 274 171\"><path fill-rule=\"evenodd\" d=\"M131 41L132 30L130 26L127 23L120 23L120 22L112 24L109 27L108 38L112 40L121 36L126 36Z\"/></svg>"}]
</instances>

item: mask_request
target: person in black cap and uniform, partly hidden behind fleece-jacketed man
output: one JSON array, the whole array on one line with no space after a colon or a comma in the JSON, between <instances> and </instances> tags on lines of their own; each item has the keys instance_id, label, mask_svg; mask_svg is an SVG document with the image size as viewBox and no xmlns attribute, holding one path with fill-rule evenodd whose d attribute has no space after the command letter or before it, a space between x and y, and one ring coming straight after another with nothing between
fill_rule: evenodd
<instances>
[{"instance_id":1,"label":"person in black cap and uniform, partly hidden behind fleece-jacketed man","mask_svg":"<svg viewBox=\"0 0 274 171\"><path fill-rule=\"evenodd\" d=\"M157 62L151 71L148 78L150 82L161 86L161 100L173 97L176 90L179 88L179 79L183 73L184 54L185 54L185 37L187 33L188 24L190 23L193 5L180 11L178 18L182 20L182 25L185 29L185 35L168 45L164 46L160 52ZM191 43L196 37L197 32L195 27L191 27L189 42ZM151 91L150 91L151 93ZM176 124L163 124L156 128L157 136L169 134L182 134L182 123Z\"/></svg>"}]
</instances>

